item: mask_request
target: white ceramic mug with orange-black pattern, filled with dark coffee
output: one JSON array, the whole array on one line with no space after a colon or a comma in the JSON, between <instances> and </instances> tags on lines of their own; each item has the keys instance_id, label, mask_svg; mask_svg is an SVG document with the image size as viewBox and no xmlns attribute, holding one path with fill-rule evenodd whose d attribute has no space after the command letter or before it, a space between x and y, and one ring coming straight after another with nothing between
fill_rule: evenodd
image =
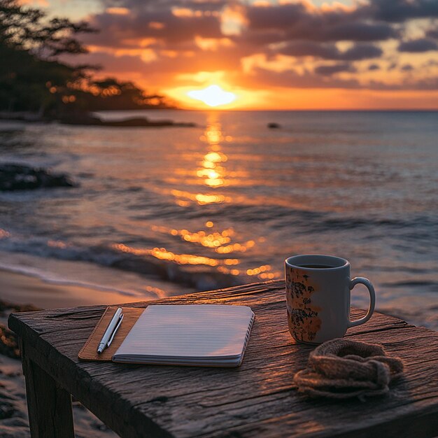
<instances>
[{"instance_id":1,"label":"white ceramic mug with orange-black pattern, filled with dark coffee","mask_svg":"<svg viewBox=\"0 0 438 438\"><path fill-rule=\"evenodd\" d=\"M320 344L341 338L348 327L366 323L374 312L376 294L367 278L350 278L350 263L331 255L295 255L285 260L286 305L292 337ZM369 309L358 320L350 319L350 291L367 286Z\"/></svg>"}]
</instances>

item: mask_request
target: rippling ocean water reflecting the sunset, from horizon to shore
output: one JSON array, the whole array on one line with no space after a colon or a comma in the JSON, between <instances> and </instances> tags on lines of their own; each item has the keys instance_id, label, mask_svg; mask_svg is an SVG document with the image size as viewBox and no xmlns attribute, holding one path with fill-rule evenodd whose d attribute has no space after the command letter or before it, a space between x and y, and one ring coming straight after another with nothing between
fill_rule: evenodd
<instances>
[{"instance_id":1,"label":"rippling ocean water reflecting the sunset, from horizon to shore","mask_svg":"<svg viewBox=\"0 0 438 438\"><path fill-rule=\"evenodd\" d=\"M101 115L139 114L197 127L0 122L1 162L80 185L0 192L0 268L153 298L338 255L379 310L438 328L437 112Z\"/></svg>"}]
</instances>

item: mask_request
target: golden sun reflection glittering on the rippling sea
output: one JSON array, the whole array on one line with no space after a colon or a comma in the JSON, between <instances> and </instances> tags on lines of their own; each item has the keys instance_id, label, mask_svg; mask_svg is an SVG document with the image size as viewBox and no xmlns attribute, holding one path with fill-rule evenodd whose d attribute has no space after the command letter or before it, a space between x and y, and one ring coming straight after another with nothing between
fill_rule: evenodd
<instances>
[{"instance_id":1,"label":"golden sun reflection glittering on the rippling sea","mask_svg":"<svg viewBox=\"0 0 438 438\"><path fill-rule=\"evenodd\" d=\"M232 141L231 136L225 136L222 132L222 126L218 121L218 115L212 113L209 115L206 129L199 140L204 143L202 155L196 155L197 167L192 170L180 169L178 175L185 178L186 185L195 185L204 190L181 190L174 188L170 190L170 195L175 198L176 204L184 208L190 208L193 203L199 206L209 204L222 204L239 202L236 195L230 197L225 188L227 185L250 183L248 174L244 170L227 169L226 163L229 157L222 148L224 143ZM188 156L192 160L193 156ZM239 180L237 179L239 178ZM169 192L167 192L169 193ZM281 273L274 272L270 264L261 264L260 266L248 267L243 266L243 261L236 255L243 255L254 248L258 243L264 241L262 236L253 236L253 239L238 241L239 236L234 227L219 227L213 220L206 220L203 229L190 229L188 224L185 227L166 227L163 225L152 225L153 232L159 232L167 235L164 240L169 238L169 246L174 247L172 238L179 239L184 243L184 248L190 248L187 244L203 247L199 251L206 251L206 255L195 255L195 249L188 250L188 253L176 253L167 248L141 249L132 248L123 243L115 245L120 251L131 253L139 256L152 256L160 260L174 262L184 265L204 265L212 267L215 271L222 274L244 277L257 277L261 280L277 278ZM257 242L257 243L256 243ZM177 243L176 243L177 244ZM177 244L178 245L178 244ZM169 247L168 247L169 248ZM184 250L185 252L185 250ZM230 255L234 257L230 257ZM215 257L216 256L216 257Z\"/></svg>"}]
</instances>

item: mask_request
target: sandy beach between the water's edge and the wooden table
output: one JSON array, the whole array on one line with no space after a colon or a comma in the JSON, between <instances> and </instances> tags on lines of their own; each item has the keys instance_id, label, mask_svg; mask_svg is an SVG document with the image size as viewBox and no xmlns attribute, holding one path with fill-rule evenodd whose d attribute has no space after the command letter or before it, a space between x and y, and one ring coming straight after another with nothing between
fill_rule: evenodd
<instances>
[{"instance_id":1,"label":"sandy beach between the water's edge and the wooden table","mask_svg":"<svg viewBox=\"0 0 438 438\"><path fill-rule=\"evenodd\" d=\"M39 278L0 270L0 437L30 437L27 421L26 392L24 376L19 358L14 356L13 335L6 330L8 316L12 311L35 308L85 306L91 304L115 304L138 301L138 297L115 292L84 288L76 285L45 283ZM10 303L8 305L7 303ZM117 437L80 403L73 401L73 416L76 437Z\"/></svg>"}]
</instances>

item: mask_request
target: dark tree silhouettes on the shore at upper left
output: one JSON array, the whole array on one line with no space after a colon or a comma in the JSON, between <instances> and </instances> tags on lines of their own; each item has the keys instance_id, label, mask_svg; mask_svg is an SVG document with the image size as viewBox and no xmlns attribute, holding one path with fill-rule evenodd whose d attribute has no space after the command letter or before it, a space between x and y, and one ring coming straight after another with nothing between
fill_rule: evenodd
<instances>
[{"instance_id":1,"label":"dark tree silhouettes on the shore at upper left","mask_svg":"<svg viewBox=\"0 0 438 438\"><path fill-rule=\"evenodd\" d=\"M167 108L131 82L94 79L97 66L71 66L60 55L86 53L78 36L96 31L86 22L47 19L38 8L0 0L0 111L65 116L103 109Z\"/></svg>"}]
</instances>

